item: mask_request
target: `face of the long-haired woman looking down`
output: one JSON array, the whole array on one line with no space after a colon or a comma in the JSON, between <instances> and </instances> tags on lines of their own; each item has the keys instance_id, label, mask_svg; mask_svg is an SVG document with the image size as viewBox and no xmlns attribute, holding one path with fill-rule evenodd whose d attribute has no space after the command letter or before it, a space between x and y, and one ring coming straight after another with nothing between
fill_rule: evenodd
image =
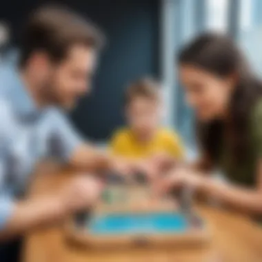
<instances>
[{"instance_id":1,"label":"face of the long-haired woman looking down","mask_svg":"<svg viewBox=\"0 0 262 262\"><path fill-rule=\"evenodd\" d=\"M179 78L188 104L201 121L224 117L232 93L232 79L217 77L190 65L181 65Z\"/></svg>"}]
</instances>

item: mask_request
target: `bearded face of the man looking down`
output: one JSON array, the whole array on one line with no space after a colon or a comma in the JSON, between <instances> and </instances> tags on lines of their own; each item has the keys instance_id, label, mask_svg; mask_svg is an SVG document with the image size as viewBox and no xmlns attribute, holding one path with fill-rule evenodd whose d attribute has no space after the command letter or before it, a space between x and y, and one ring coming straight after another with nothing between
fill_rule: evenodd
<instances>
[{"instance_id":1,"label":"bearded face of the man looking down","mask_svg":"<svg viewBox=\"0 0 262 262\"><path fill-rule=\"evenodd\" d=\"M96 53L86 46L73 46L58 64L50 63L46 74L46 94L49 103L66 109L74 108L84 94L90 92Z\"/></svg>"}]
</instances>

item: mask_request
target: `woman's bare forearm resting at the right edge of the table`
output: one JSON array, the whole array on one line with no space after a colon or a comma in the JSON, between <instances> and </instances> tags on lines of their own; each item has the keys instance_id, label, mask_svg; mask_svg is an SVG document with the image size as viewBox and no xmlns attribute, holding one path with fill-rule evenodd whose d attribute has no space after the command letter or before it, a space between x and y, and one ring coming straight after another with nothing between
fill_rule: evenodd
<instances>
[{"instance_id":1,"label":"woman's bare forearm resting at the right edge of the table","mask_svg":"<svg viewBox=\"0 0 262 262\"><path fill-rule=\"evenodd\" d=\"M262 192L259 190L249 190L205 178L201 185L201 191L234 208L262 214Z\"/></svg>"}]
</instances>

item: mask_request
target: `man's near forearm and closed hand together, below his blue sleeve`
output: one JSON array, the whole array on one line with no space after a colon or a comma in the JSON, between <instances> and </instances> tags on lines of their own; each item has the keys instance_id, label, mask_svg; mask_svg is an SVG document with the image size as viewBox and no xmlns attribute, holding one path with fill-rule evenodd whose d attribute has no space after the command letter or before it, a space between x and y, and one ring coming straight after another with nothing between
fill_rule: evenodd
<instances>
[{"instance_id":1,"label":"man's near forearm and closed hand together, below his blue sleeve","mask_svg":"<svg viewBox=\"0 0 262 262\"><path fill-rule=\"evenodd\" d=\"M60 192L14 203L12 216L0 231L0 241L41 225L57 223L66 216L84 210L99 199L103 184L94 177L74 177Z\"/></svg>"}]
</instances>

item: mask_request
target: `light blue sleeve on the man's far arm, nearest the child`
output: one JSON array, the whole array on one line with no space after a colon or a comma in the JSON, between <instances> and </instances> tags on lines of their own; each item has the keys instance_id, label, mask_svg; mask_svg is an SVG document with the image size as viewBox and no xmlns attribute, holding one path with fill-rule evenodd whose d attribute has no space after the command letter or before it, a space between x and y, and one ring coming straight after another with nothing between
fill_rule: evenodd
<instances>
[{"instance_id":1,"label":"light blue sleeve on the man's far arm, nearest the child","mask_svg":"<svg viewBox=\"0 0 262 262\"><path fill-rule=\"evenodd\" d=\"M53 119L55 121L55 129L53 132L52 148L58 157L64 161L68 161L74 150L84 142L84 139L75 130L63 112L57 111Z\"/></svg>"}]
</instances>

